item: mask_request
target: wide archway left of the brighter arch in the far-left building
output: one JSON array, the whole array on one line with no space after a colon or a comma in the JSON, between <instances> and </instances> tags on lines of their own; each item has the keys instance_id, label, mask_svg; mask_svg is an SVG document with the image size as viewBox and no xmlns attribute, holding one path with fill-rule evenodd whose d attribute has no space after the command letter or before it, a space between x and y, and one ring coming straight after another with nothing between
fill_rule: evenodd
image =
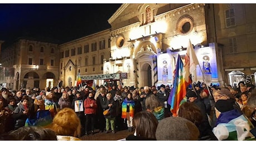
<instances>
[{"instance_id":1,"label":"wide archway left of the brighter arch in the far-left building","mask_svg":"<svg viewBox=\"0 0 256 144\"><path fill-rule=\"evenodd\" d=\"M39 88L40 78L35 71L28 72L24 75L23 88Z\"/></svg>"}]
</instances>

